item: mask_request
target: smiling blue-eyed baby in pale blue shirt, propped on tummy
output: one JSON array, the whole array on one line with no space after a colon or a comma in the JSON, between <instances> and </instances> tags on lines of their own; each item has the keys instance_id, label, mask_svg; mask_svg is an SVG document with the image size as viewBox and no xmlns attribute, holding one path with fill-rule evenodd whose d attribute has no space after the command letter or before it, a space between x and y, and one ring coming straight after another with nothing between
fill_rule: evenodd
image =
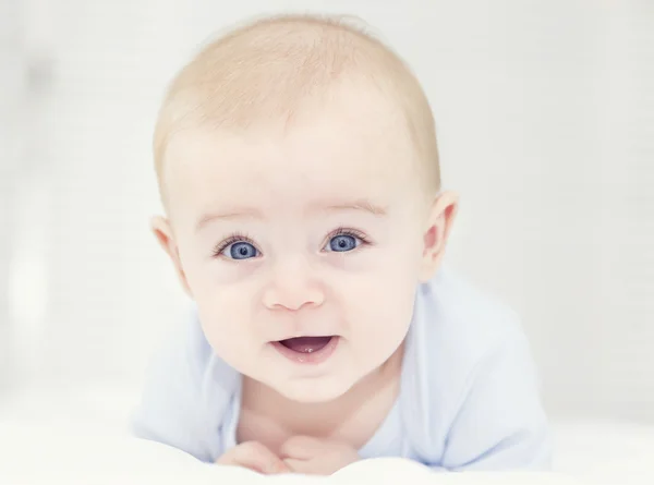
<instances>
[{"instance_id":1,"label":"smiling blue-eyed baby in pale blue shirt, propped on tummy","mask_svg":"<svg viewBox=\"0 0 654 485\"><path fill-rule=\"evenodd\" d=\"M138 436L259 473L545 469L516 315L441 269L457 196L407 65L339 20L232 31L172 83L153 230L194 314Z\"/></svg>"}]
</instances>

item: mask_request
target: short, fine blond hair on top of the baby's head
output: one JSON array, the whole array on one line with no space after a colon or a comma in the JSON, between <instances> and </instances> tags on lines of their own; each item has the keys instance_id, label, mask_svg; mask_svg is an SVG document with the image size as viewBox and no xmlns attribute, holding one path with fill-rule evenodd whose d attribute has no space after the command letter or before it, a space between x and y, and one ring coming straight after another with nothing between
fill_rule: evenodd
<instances>
[{"instance_id":1,"label":"short, fine blond hair on top of the baby's head","mask_svg":"<svg viewBox=\"0 0 654 485\"><path fill-rule=\"evenodd\" d=\"M308 98L325 95L346 74L397 99L424 161L423 179L440 187L434 118L407 64L347 16L282 15L232 29L204 47L172 81L154 134L161 185L166 148L174 133L209 125L244 130L286 120Z\"/></svg>"}]
</instances>

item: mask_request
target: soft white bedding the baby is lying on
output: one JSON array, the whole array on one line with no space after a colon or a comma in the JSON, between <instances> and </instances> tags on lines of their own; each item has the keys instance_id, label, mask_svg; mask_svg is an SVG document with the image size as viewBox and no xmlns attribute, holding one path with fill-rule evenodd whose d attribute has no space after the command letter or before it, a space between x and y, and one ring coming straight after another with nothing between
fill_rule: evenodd
<instances>
[{"instance_id":1,"label":"soft white bedding the baby is lying on","mask_svg":"<svg viewBox=\"0 0 654 485\"><path fill-rule=\"evenodd\" d=\"M434 474L398 459L370 460L331 477L265 477L203 465L162 445L133 439L125 422L134 393L37 392L0 407L0 484L439 483L653 484L654 427L614 422L555 423L552 474Z\"/></svg>"}]
</instances>

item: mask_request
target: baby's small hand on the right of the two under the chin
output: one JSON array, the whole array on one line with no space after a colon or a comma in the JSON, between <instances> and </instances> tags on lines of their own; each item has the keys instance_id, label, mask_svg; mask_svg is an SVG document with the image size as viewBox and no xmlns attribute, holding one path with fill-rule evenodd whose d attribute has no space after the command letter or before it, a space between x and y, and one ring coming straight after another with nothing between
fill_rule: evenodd
<instances>
[{"instance_id":1,"label":"baby's small hand on the right of the two under the chin","mask_svg":"<svg viewBox=\"0 0 654 485\"><path fill-rule=\"evenodd\" d=\"M286 441L280 456L294 473L330 475L359 461L352 446L341 441L294 436Z\"/></svg>"}]
</instances>

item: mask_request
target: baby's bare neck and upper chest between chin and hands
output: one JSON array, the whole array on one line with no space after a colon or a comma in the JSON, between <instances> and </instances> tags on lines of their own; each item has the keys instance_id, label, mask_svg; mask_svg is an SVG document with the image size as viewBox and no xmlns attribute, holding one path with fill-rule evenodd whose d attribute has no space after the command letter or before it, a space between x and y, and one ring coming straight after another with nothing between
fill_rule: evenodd
<instances>
[{"instance_id":1,"label":"baby's bare neck and upper chest between chin and hands","mask_svg":"<svg viewBox=\"0 0 654 485\"><path fill-rule=\"evenodd\" d=\"M271 449L291 436L334 438L359 449L374 435L399 393L403 349L340 398L302 403L243 378L239 442L257 440Z\"/></svg>"}]
</instances>

